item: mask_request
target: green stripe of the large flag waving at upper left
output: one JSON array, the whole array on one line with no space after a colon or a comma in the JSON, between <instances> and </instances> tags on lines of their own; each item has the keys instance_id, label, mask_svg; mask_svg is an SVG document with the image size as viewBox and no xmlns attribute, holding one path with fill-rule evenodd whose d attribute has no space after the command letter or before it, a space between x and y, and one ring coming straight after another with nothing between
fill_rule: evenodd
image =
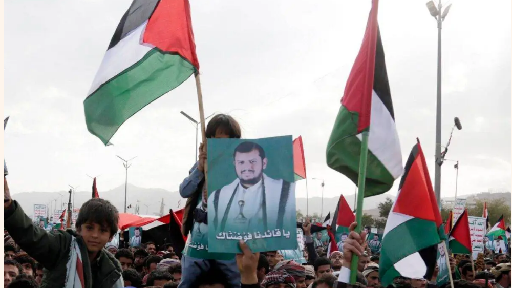
<instances>
[{"instance_id":1,"label":"green stripe of the large flag waving at upper left","mask_svg":"<svg viewBox=\"0 0 512 288\"><path fill-rule=\"evenodd\" d=\"M89 132L106 145L124 121L194 72L194 66L181 56L150 50L83 101Z\"/></svg>"}]
</instances>

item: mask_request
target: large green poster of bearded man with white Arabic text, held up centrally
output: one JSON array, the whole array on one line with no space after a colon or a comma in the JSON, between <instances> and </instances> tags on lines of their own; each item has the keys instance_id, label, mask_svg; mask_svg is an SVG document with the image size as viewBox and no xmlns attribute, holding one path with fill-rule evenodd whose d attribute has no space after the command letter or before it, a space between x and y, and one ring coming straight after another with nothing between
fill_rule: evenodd
<instances>
[{"instance_id":1,"label":"large green poster of bearded man with white Arabic text, held up centrally","mask_svg":"<svg viewBox=\"0 0 512 288\"><path fill-rule=\"evenodd\" d=\"M208 249L297 247L291 136L208 139Z\"/></svg>"}]
</instances>

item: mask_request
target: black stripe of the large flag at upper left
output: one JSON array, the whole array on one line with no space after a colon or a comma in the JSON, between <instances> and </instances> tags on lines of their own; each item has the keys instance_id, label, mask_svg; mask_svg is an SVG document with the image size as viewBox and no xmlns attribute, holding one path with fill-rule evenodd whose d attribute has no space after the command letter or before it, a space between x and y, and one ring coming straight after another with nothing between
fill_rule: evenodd
<instances>
[{"instance_id":1,"label":"black stripe of the large flag at upper left","mask_svg":"<svg viewBox=\"0 0 512 288\"><path fill-rule=\"evenodd\" d=\"M148 20L158 3L159 0L134 0L121 18L116 32L114 32L114 36L112 36L110 41L109 49L116 46L128 33Z\"/></svg>"}]
</instances>

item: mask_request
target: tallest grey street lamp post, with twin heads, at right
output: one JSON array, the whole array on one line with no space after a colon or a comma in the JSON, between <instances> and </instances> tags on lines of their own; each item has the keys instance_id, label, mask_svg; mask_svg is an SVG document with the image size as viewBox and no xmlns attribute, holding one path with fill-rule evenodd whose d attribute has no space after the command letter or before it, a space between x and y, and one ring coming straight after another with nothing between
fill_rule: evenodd
<instances>
[{"instance_id":1,"label":"tallest grey street lamp post, with twin heads, at right","mask_svg":"<svg viewBox=\"0 0 512 288\"><path fill-rule=\"evenodd\" d=\"M441 158L441 29L442 23L448 15L448 11L452 4L446 6L442 11L441 0L436 8L433 0L426 3L430 15L437 20L437 108L436 108L436 165L435 165L435 180L434 192L437 198L437 204L441 207L441 165L438 164L438 159Z\"/></svg>"}]
</instances>

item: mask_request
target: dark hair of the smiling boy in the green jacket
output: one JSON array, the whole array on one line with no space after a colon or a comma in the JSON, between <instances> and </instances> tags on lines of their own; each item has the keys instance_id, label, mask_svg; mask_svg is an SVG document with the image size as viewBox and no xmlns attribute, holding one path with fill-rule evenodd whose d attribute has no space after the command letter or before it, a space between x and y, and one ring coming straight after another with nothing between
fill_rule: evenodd
<instances>
[{"instance_id":1,"label":"dark hair of the smiling boy in the green jacket","mask_svg":"<svg viewBox=\"0 0 512 288\"><path fill-rule=\"evenodd\" d=\"M81 225L91 222L109 229L110 237L114 236L118 230L119 212L109 201L101 198L91 198L83 203L76 218L76 230L80 230Z\"/></svg>"}]
</instances>

